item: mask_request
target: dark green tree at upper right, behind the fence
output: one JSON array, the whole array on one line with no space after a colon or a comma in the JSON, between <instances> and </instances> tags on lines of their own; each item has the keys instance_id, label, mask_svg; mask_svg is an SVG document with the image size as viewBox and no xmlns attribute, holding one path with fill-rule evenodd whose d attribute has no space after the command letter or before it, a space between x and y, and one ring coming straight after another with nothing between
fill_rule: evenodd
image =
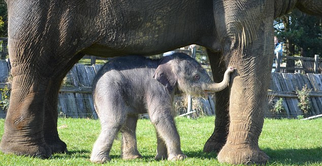
<instances>
[{"instance_id":1,"label":"dark green tree at upper right, behind the fence","mask_svg":"<svg viewBox=\"0 0 322 166\"><path fill-rule=\"evenodd\" d=\"M276 36L283 42L286 55L322 56L322 19L299 10L274 21Z\"/></svg>"}]
</instances>

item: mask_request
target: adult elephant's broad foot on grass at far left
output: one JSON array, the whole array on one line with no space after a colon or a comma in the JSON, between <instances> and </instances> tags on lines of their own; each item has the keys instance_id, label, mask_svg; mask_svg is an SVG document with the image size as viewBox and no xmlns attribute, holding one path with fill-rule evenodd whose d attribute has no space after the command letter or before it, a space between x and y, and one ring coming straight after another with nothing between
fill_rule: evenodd
<instances>
[{"instance_id":1,"label":"adult elephant's broad foot on grass at far left","mask_svg":"<svg viewBox=\"0 0 322 166\"><path fill-rule=\"evenodd\" d=\"M19 139L8 139L5 135L0 143L0 150L5 154L27 155L39 158L49 158L52 154L50 147L45 142L21 142Z\"/></svg>"}]
</instances>

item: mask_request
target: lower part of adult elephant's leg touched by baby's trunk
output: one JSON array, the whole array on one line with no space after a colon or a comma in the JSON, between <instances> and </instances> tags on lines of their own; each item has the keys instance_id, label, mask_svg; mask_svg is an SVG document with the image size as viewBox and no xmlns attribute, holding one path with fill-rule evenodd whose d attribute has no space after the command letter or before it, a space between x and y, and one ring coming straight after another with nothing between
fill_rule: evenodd
<instances>
[{"instance_id":1,"label":"lower part of adult elephant's leg touched by baby's trunk","mask_svg":"<svg viewBox=\"0 0 322 166\"><path fill-rule=\"evenodd\" d=\"M269 71L269 70L268 70ZM227 143L218 154L220 162L233 164L266 163L268 156L259 148L258 140L264 123L267 78L236 76L230 97L230 127ZM262 79L263 81L259 81ZM257 80L257 81L256 81Z\"/></svg>"}]
</instances>

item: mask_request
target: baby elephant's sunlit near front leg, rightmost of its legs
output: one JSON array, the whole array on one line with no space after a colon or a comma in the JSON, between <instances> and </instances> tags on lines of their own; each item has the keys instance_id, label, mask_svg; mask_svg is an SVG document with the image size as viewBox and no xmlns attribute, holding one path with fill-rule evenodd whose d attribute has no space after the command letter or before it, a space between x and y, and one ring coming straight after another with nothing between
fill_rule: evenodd
<instances>
[{"instance_id":1,"label":"baby elephant's sunlit near front leg, rightmost of its legs","mask_svg":"<svg viewBox=\"0 0 322 166\"><path fill-rule=\"evenodd\" d=\"M181 151L180 137L171 115L170 107L166 110L154 108L149 114L157 133L166 143L168 160L182 160L186 158L187 156Z\"/></svg>"}]
</instances>

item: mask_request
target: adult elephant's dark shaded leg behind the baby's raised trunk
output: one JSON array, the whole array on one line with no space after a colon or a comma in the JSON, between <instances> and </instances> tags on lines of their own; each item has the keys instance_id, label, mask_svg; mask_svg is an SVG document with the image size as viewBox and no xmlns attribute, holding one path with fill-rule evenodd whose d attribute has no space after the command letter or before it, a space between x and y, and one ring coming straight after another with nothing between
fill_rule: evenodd
<instances>
[{"instance_id":1,"label":"adult elephant's dark shaded leg behind the baby's raised trunk","mask_svg":"<svg viewBox=\"0 0 322 166\"><path fill-rule=\"evenodd\" d=\"M207 51L213 79L215 82L221 82L224 72L226 71L226 63L222 59L222 53L213 53ZM215 93L215 129L211 137L204 146L204 152L219 152L226 143L229 128L229 88Z\"/></svg>"}]
</instances>

